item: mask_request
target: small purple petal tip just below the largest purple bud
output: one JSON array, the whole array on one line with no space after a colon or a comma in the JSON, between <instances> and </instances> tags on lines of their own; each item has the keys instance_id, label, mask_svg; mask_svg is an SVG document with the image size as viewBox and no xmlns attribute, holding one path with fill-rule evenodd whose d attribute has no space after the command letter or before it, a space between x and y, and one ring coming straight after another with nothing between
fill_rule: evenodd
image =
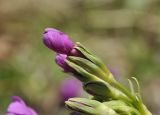
<instances>
[{"instance_id":1,"label":"small purple petal tip just below the largest purple bud","mask_svg":"<svg viewBox=\"0 0 160 115\"><path fill-rule=\"evenodd\" d=\"M67 55L65 54L57 54L55 61L61 68L63 68L65 72L71 72L73 71L73 69L69 67L67 63L65 62L66 58L67 58Z\"/></svg>"}]
</instances>

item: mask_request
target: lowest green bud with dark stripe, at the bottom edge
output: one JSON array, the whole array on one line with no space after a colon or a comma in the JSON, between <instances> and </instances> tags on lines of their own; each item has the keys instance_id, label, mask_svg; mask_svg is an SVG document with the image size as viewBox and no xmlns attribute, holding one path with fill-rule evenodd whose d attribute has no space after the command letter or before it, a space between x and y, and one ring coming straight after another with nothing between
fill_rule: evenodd
<instances>
[{"instance_id":1,"label":"lowest green bud with dark stripe, at the bottom edge","mask_svg":"<svg viewBox=\"0 0 160 115\"><path fill-rule=\"evenodd\" d=\"M71 98L66 101L69 109L86 115L118 115L113 109L96 100Z\"/></svg>"}]
</instances>

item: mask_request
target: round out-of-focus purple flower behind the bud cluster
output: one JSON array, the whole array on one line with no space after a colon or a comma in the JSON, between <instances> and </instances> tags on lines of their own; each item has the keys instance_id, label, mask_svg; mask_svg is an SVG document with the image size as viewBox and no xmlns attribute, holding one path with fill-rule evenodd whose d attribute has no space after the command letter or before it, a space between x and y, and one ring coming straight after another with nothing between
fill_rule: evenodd
<instances>
[{"instance_id":1,"label":"round out-of-focus purple flower behind the bud cluster","mask_svg":"<svg viewBox=\"0 0 160 115\"><path fill-rule=\"evenodd\" d=\"M68 100L69 98L79 96L81 91L82 84L74 77L68 77L64 79L60 85L60 96L64 101Z\"/></svg>"}]
</instances>

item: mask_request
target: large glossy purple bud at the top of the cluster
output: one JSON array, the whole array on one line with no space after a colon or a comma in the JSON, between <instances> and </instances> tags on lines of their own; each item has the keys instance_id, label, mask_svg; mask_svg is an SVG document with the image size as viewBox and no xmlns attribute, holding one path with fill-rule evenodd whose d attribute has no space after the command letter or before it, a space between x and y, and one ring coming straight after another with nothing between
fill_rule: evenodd
<instances>
[{"instance_id":1,"label":"large glossy purple bud at the top of the cluster","mask_svg":"<svg viewBox=\"0 0 160 115\"><path fill-rule=\"evenodd\" d=\"M61 54L69 54L74 47L68 35L54 28L45 29L43 42L48 48Z\"/></svg>"}]
</instances>

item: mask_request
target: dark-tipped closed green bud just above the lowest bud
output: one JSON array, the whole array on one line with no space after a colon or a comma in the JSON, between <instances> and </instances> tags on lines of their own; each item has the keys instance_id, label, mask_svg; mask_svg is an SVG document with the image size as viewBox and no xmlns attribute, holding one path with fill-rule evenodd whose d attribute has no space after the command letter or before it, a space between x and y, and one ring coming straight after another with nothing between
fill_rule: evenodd
<instances>
[{"instance_id":1,"label":"dark-tipped closed green bud just above the lowest bud","mask_svg":"<svg viewBox=\"0 0 160 115\"><path fill-rule=\"evenodd\" d=\"M96 99L100 98L99 101L119 99L127 103L131 102L131 100L125 94L123 94L122 92L120 92L106 82L90 81L85 83L83 88L89 94L96 97Z\"/></svg>"}]
</instances>

